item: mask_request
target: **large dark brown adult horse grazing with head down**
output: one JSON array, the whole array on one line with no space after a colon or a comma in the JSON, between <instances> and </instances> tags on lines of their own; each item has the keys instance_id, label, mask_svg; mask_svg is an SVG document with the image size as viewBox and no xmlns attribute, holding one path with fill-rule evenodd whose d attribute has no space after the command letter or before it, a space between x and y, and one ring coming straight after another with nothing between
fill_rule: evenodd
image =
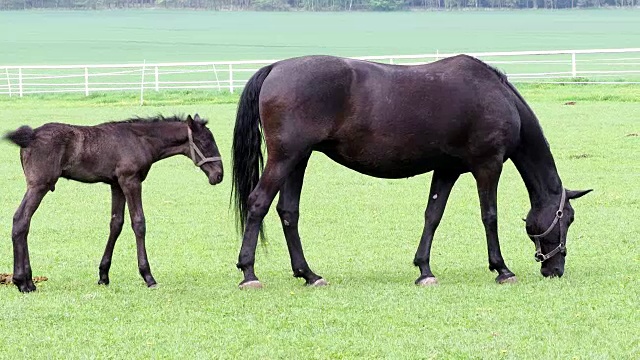
<instances>
[{"instance_id":1,"label":"large dark brown adult horse grazing with head down","mask_svg":"<svg viewBox=\"0 0 640 360\"><path fill-rule=\"evenodd\" d=\"M267 163L262 169L262 135ZM240 287L261 287L254 273L257 237L275 195L295 277L326 281L309 268L298 234L300 192L313 151L379 178L433 171L425 225L413 263L418 285L437 283L429 266L434 232L458 177L476 180L489 253L498 283L515 281L498 243L496 192L511 159L529 192L526 230L544 276L564 272L574 211L542 128L504 74L466 55L397 66L308 56L260 69L247 83L233 139L233 191L244 230Z\"/></svg>"}]
</instances>

